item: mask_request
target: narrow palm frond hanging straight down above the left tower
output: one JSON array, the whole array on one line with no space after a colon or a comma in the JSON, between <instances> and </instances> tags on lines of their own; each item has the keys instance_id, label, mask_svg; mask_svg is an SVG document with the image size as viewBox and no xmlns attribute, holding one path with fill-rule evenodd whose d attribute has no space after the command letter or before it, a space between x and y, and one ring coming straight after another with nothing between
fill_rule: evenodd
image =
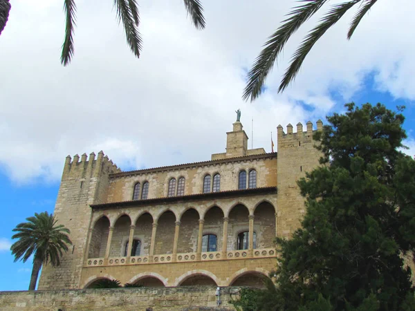
<instances>
[{"instance_id":1,"label":"narrow palm frond hanging straight down above the left tower","mask_svg":"<svg viewBox=\"0 0 415 311\"><path fill-rule=\"evenodd\" d=\"M65 39L62 44L61 63L66 66L73 57L73 32L76 26L76 5L75 0L64 0L64 11L66 15Z\"/></svg>"}]
</instances>

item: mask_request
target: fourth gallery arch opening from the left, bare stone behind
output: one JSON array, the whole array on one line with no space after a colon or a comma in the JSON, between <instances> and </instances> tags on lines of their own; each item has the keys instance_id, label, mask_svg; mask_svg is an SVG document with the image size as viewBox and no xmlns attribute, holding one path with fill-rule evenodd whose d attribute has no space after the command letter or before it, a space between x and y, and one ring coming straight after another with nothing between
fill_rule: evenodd
<instances>
[{"instance_id":1,"label":"fourth gallery arch opening from the left, bare stone behind","mask_svg":"<svg viewBox=\"0 0 415 311\"><path fill-rule=\"evenodd\" d=\"M172 211L165 211L158 218L156 245L154 254L172 254L174 244L174 227L176 216Z\"/></svg>"}]
</instances>

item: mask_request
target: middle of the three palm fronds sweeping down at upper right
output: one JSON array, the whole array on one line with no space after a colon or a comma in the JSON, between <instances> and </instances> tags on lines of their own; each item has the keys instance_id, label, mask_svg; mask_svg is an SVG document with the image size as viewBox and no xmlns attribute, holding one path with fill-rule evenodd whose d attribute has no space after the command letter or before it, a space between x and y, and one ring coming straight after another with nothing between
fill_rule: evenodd
<instances>
[{"instance_id":1,"label":"middle of the three palm fronds sweeping down at upper right","mask_svg":"<svg viewBox=\"0 0 415 311\"><path fill-rule=\"evenodd\" d=\"M361 0L353 0L349 2L344 2L340 4L336 4L329 10L329 12L321 19L321 23L315 26L311 32L306 35L305 39L302 41L302 44L297 48L295 51L293 58L291 60L291 64L286 70L284 77L282 78L282 82L279 85L278 92L284 91L284 89L290 84L290 82L295 79L295 75L297 75L299 68L304 62L304 58L310 52L311 48L313 48L315 42L324 35L324 33L335 23L339 21L339 19L347 12L350 8L352 8L356 3L359 3Z\"/></svg>"}]
</instances>

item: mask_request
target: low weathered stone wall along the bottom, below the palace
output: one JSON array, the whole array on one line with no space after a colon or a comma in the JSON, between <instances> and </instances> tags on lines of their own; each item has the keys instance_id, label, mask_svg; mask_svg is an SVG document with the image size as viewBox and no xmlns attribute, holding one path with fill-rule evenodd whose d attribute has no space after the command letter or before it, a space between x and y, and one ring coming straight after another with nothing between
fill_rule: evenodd
<instances>
[{"instance_id":1,"label":"low weathered stone wall along the bottom, below the palace","mask_svg":"<svg viewBox=\"0 0 415 311\"><path fill-rule=\"evenodd\" d=\"M2 311L119 310L154 311L234 310L229 301L240 288L221 288L221 308L216 309L216 287L119 288L0 292ZM199 308L198 308L199 307Z\"/></svg>"}]
</instances>

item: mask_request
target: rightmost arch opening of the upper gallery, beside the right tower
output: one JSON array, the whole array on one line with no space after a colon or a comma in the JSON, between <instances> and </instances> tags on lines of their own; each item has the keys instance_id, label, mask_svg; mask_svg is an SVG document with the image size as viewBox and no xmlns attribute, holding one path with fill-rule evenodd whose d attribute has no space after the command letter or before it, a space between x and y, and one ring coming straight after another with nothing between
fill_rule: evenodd
<instances>
[{"instance_id":1,"label":"rightmost arch opening of the upper gallery, beside the right tower","mask_svg":"<svg viewBox=\"0 0 415 311\"><path fill-rule=\"evenodd\" d=\"M275 208L269 202L261 202L254 212L254 228L257 232L257 248L275 247Z\"/></svg>"}]
</instances>

